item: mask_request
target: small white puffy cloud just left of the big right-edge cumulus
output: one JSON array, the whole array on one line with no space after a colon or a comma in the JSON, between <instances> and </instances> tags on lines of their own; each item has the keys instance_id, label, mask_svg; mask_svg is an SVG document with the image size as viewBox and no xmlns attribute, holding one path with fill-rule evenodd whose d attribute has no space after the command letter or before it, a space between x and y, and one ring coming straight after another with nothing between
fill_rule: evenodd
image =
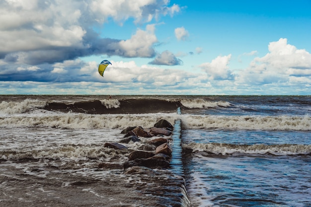
<instances>
[{"instance_id":1,"label":"small white puffy cloud just left of the big right-edge cumulus","mask_svg":"<svg viewBox=\"0 0 311 207\"><path fill-rule=\"evenodd\" d=\"M228 56L218 56L211 63L203 63L199 67L205 71L210 79L232 79L233 74L229 70L231 54Z\"/></svg>"}]
</instances>

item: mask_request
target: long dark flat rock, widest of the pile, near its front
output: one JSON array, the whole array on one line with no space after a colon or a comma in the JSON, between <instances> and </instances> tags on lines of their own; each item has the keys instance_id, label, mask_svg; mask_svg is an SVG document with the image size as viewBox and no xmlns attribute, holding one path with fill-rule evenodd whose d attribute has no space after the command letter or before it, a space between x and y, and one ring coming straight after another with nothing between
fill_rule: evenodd
<instances>
[{"instance_id":1,"label":"long dark flat rock, widest of the pile, near its front","mask_svg":"<svg viewBox=\"0 0 311 207\"><path fill-rule=\"evenodd\" d=\"M144 167L149 167L152 169L168 168L169 163L166 160L155 159L153 157L149 157L149 158L142 158L142 159L135 159L135 160L127 161L123 164L124 169L133 167L133 166L144 166Z\"/></svg>"}]
</instances>

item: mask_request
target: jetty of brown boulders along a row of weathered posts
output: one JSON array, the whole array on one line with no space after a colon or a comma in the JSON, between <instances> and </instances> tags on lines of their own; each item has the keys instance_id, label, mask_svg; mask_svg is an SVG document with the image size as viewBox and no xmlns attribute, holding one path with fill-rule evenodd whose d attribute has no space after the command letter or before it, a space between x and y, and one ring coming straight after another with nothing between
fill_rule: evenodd
<instances>
[{"instance_id":1,"label":"jetty of brown boulders along a row of weathered posts","mask_svg":"<svg viewBox=\"0 0 311 207\"><path fill-rule=\"evenodd\" d=\"M173 126L161 119L149 129L141 126L127 127L121 132L124 136L119 141L104 144L104 147L125 153L127 159L120 164L101 163L98 168L123 167L124 176L144 183L135 183L129 189L133 195L141 195L142 201L147 199L143 206L190 207L182 164L180 165L182 158L180 125L180 120L175 121ZM129 142L138 142L138 149L128 149L125 145ZM136 196L133 196L133 201L127 201L128 206L131 204L139 206L139 202Z\"/></svg>"}]
</instances>

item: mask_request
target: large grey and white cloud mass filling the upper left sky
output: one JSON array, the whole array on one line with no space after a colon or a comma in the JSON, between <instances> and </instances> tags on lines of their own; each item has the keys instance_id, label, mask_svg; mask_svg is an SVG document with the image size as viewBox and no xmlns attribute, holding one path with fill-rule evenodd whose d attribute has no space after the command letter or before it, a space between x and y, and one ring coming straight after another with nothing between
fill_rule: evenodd
<instances>
[{"instance_id":1,"label":"large grey and white cloud mass filling the upper left sky","mask_svg":"<svg viewBox=\"0 0 311 207\"><path fill-rule=\"evenodd\" d=\"M89 55L154 57L154 26L138 29L129 40L101 38L93 26L113 19L122 24L150 22L180 10L169 1L2 0L0 59L15 64L54 64ZM139 40L139 41L138 41Z\"/></svg>"}]
</instances>

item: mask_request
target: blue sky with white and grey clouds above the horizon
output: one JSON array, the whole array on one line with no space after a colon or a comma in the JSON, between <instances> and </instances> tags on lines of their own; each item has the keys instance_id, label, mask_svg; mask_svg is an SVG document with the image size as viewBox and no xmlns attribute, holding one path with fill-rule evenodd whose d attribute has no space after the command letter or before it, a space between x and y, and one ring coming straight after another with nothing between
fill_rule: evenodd
<instances>
[{"instance_id":1,"label":"blue sky with white and grey clouds above the horizon","mask_svg":"<svg viewBox=\"0 0 311 207\"><path fill-rule=\"evenodd\" d=\"M311 95L310 11L311 0L0 0L0 94Z\"/></svg>"}]
</instances>

